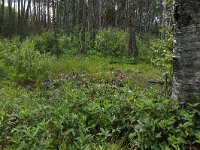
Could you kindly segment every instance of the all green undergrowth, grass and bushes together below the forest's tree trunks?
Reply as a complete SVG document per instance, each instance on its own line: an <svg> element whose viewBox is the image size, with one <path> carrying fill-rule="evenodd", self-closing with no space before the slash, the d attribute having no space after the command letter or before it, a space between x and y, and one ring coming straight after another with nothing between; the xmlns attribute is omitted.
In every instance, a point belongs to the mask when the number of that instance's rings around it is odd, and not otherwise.
<svg viewBox="0 0 200 150"><path fill-rule="evenodd" d="M56 59L54 40L47 32L0 42L0 149L200 147L200 103L171 100L162 77L169 41L138 38L133 59L125 31L101 31L81 55L78 36L63 35Z"/></svg>

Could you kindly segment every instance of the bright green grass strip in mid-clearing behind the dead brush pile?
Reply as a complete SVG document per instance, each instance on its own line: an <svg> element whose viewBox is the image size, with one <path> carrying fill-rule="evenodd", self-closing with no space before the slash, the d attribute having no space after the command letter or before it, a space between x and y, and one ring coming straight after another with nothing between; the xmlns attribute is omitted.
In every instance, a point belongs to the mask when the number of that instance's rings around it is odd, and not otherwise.
<svg viewBox="0 0 200 150"><path fill-rule="evenodd" d="M98 81L111 82L116 76L123 76L126 83L139 83L149 87L148 80L162 80L162 71L147 63L112 63L112 57L102 56L75 56L62 57L50 63L50 70L54 76L60 74L84 74ZM122 59L122 58L118 58ZM131 60L130 60L131 61ZM118 75L115 73L119 72ZM138 84L138 85L139 85Z"/></svg>

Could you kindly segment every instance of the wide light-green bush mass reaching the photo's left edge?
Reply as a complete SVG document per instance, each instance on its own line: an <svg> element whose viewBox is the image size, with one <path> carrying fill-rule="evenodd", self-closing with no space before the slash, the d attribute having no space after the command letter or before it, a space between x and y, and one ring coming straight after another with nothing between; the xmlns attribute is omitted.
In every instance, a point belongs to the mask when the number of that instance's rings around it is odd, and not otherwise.
<svg viewBox="0 0 200 150"><path fill-rule="evenodd" d="M48 54L40 54L35 50L33 41L26 40L21 45L8 42L4 45L1 64L7 78L14 78L17 83L26 84L36 83L49 75L47 66L51 58Z"/></svg>

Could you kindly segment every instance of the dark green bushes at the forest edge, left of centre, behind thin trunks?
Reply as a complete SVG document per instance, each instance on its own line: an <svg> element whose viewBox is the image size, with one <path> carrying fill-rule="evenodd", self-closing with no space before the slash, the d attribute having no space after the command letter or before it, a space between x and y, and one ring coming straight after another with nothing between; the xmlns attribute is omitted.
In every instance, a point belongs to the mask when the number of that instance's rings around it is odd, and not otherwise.
<svg viewBox="0 0 200 150"><path fill-rule="evenodd" d="M34 43L34 48L40 53L56 54L59 51L60 54L73 55L77 54L82 45L81 34L74 33L74 35L61 35L55 38L52 31L45 32L41 35L32 36L29 38ZM90 38L86 33L86 49L90 50Z"/></svg>

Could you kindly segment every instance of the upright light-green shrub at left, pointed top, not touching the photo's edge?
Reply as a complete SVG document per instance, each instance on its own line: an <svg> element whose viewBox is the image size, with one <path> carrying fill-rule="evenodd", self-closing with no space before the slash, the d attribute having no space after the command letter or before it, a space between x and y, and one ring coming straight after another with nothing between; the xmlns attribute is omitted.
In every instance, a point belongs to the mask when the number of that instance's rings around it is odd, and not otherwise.
<svg viewBox="0 0 200 150"><path fill-rule="evenodd" d="M16 79L22 82L36 82L50 74L48 54L40 54L34 49L34 43L27 40L21 48L13 54L13 66L16 69Z"/></svg>

